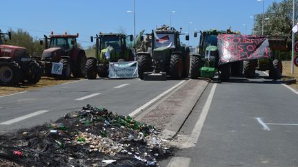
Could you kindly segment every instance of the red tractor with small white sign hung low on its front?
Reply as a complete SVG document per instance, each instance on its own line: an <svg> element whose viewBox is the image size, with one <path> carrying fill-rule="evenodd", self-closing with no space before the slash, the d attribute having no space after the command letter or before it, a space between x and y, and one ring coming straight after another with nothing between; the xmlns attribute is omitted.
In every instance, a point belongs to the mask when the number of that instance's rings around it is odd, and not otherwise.
<svg viewBox="0 0 298 167"><path fill-rule="evenodd" d="M44 36L45 50L39 64L43 67L46 76L68 79L70 75L75 78L85 77L86 54L77 46L77 35L59 34ZM43 40L40 41L43 45Z"/></svg>

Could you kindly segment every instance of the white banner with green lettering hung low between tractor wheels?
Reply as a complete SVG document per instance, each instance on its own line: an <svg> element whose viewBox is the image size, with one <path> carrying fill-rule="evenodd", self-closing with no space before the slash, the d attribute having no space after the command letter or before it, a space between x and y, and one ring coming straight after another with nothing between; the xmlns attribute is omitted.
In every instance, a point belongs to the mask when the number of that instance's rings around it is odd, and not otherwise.
<svg viewBox="0 0 298 167"><path fill-rule="evenodd" d="M109 78L136 78L138 77L137 61L110 62Z"/></svg>

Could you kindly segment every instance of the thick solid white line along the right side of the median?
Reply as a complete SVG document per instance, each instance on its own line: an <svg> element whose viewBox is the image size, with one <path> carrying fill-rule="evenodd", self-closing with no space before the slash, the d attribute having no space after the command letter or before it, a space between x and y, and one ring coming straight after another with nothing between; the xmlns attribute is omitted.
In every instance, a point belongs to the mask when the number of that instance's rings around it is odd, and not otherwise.
<svg viewBox="0 0 298 167"><path fill-rule="evenodd" d="M206 117L208 115L209 109L210 109L210 105L212 102L212 98L215 94L215 89L217 87L217 84L215 83L212 88L211 91L209 93L209 96L206 100L206 103L201 111L201 115L199 116L199 120L197 120L194 129L192 130L192 133L190 135L190 137L188 138L188 142L183 143L182 148L190 148L190 147L195 147L195 144L197 143L197 141L199 140L199 136L201 134L201 130L203 128L203 124L206 120Z"/></svg>

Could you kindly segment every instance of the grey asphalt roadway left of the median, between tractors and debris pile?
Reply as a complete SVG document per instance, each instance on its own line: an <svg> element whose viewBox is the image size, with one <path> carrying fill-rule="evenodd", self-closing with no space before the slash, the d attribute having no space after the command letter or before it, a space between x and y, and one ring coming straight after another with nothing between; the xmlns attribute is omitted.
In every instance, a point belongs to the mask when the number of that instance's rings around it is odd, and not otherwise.
<svg viewBox="0 0 298 167"><path fill-rule="evenodd" d="M86 104L128 115L179 82L181 80L82 80L0 96L0 132L54 121Z"/></svg>

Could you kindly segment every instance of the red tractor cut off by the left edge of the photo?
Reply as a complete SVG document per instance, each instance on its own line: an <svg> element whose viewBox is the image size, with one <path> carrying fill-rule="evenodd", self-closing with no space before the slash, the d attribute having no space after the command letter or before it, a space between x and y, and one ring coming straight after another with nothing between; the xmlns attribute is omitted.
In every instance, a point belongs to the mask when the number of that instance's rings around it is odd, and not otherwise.
<svg viewBox="0 0 298 167"><path fill-rule="evenodd" d="M11 39L11 33L0 30L0 85L36 84L41 78L41 67L30 58L26 48L3 45L7 37Z"/></svg>

